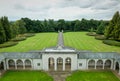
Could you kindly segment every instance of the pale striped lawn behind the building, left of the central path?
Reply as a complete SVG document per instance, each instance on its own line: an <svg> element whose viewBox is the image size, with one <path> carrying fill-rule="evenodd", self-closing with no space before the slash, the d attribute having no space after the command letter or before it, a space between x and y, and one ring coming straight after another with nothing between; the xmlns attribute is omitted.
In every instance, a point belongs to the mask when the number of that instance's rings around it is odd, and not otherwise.
<svg viewBox="0 0 120 81"><path fill-rule="evenodd" d="M27 52L56 46L57 36L58 33L38 33L34 37L19 42L16 46L0 48L0 52Z"/></svg>

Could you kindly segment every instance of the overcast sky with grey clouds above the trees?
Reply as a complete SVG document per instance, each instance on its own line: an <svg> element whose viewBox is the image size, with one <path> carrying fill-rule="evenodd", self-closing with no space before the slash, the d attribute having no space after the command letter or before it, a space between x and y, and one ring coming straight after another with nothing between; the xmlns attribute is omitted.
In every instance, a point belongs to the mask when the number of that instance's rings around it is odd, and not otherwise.
<svg viewBox="0 0 120 81"><path fill-rule="evenodd" d="M0 0L0 17L31 19L111 19L120 0Z"/></svg>

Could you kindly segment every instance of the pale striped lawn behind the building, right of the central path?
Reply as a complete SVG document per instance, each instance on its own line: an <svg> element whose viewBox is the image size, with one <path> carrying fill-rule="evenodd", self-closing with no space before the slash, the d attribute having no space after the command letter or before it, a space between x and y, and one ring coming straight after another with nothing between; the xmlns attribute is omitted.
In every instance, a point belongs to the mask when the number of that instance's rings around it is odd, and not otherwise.
<svg viewBox="0 0 120 81"><path fill-rule="evenodd" d="M86 33L87 32L64 33L65 46L95 52L120 52L120 47L103 44L101 40L96 40L93 36L87 36Z"/></svg>

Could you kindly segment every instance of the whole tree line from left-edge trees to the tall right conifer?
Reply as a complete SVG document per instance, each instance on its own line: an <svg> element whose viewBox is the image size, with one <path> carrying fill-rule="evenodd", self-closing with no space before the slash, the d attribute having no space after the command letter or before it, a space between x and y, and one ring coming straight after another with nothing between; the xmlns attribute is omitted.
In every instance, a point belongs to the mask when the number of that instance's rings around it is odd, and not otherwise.
<svg viewBox="0 0 120 81"><path fill-rule="evenodd" d="M31 20L29 18L21 18L17 21L9 21L8 17L0 18L0 44L15 38L19 34L39 33L39 32L57 32L64 31L95 31L98 34L104 34L104 29L108 25L108 21L103 20L74 20L65 21L59 19L49 20Z"/></svg>

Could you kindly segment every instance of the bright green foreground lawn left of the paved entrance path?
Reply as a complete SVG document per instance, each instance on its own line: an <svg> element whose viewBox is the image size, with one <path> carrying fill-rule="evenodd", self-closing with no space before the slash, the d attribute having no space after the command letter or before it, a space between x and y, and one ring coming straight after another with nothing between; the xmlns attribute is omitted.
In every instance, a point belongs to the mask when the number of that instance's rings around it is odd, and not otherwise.
<svg viewBox="0 0 120 81"><path fill-rule="evenodd" d="M41 71L8 71L0 81L53 81L53 78Z"/></svg>

